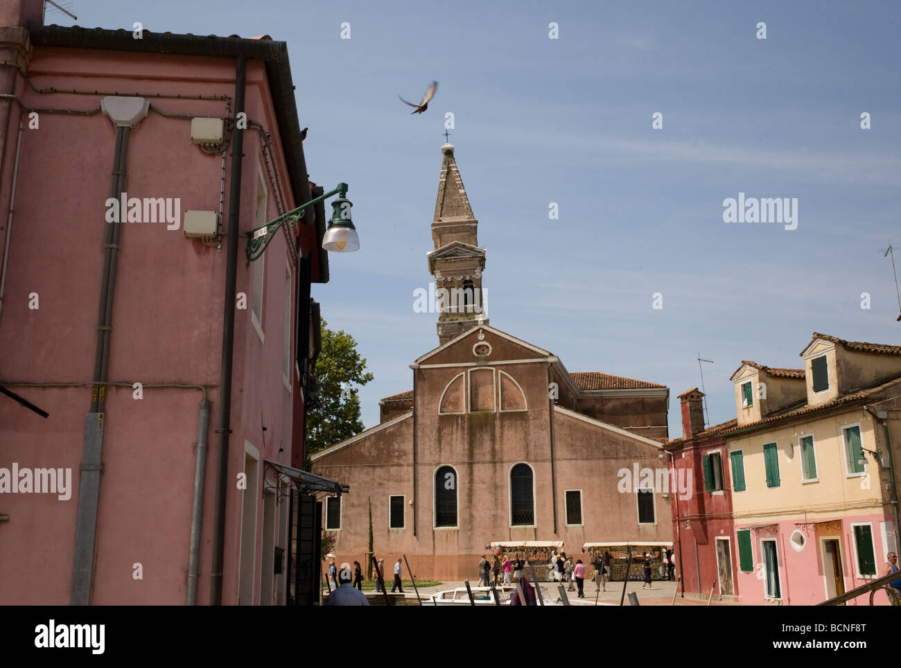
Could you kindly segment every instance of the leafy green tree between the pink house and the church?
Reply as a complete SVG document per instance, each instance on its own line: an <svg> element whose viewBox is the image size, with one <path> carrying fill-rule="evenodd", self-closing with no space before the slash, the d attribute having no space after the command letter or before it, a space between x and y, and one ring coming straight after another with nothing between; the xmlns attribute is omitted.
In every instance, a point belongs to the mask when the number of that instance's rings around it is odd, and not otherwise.
<svg viewBox="0 0 901 668"><path fill-rule="evenodd" d="M358 388L373 380L366 358L359 357L357 341L323 322L323 347L316 359L319 401L306 412L306 456L314 455L345 438L359 434Z"/></svg>

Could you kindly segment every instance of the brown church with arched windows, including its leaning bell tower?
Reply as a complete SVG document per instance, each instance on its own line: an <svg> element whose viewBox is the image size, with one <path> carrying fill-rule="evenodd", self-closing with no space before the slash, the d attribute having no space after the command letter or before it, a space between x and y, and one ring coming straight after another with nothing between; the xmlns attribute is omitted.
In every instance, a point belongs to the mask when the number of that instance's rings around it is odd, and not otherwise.
<svg viewBox="0 0 901 668"><path fill-rule="evenodd" d="M667 468L669 389L570 373L488 324L478 221L453 147L441 152L429 270L461 299L440 297L439 347L410 365L413 390L380 402L378 426L311 457L314 473L350 485L323 503L336 558L365 563L370 509L376 555L406 555L430 579L474 579L494 542L561 541L580 555L590 542L671 541L667 490L638 475Z"/></svg>

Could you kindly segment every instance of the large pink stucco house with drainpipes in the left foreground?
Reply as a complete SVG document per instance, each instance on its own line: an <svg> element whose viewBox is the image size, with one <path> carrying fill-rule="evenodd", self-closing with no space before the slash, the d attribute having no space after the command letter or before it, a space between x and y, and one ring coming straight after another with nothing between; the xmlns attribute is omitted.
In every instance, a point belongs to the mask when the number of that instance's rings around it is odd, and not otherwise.
<svg viewBox="0 0 901 668"><path fill-rule="evenodd" d="M322 192L286 44L42 5L0 8L0 604L308 602L323 205L245 256Z"/></svg>

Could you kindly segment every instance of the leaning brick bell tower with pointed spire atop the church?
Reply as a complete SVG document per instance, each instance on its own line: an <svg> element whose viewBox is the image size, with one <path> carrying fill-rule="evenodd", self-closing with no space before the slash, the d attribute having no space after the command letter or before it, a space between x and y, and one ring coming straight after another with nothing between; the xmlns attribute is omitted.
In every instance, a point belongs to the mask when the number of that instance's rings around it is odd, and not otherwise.
<svg viewBox="0 0 901 668"><path fill-rule="evenodd" d="M486 293L482 291L485 248L478 248L478 221L469 206L453 146L441 147L441 178L432 221L435 249L428 254L435 277L438 341L443 345L475 327L487 324Z"/></svg>

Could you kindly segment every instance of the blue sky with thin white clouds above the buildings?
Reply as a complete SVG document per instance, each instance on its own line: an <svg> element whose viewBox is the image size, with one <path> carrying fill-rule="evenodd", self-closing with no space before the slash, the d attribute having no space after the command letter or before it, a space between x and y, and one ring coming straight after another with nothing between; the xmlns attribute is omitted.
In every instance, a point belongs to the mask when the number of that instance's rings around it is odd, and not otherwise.
<svg viewBox="0 0 901 668"><path fill-rule="evenodd" d="M734 417L742 359L801 366L814 331L898 343L879 249L901 250L901 4L97 0L74 11L77 22L48 12L46 23L287 41L311 178L347 182L354 203L361 248L331 255L314 297L376 376L360 391L367 427L438 342L413 293L431 278L447 112L487 248L491 324L570 371L667 384L670 437L676 395L700 382L698 352L714 360L715 423ZM418 99L432 79L429 110L411 115L397 95ZM796 197L797 229L724 223L724 198L740 192Z"/></svg>

